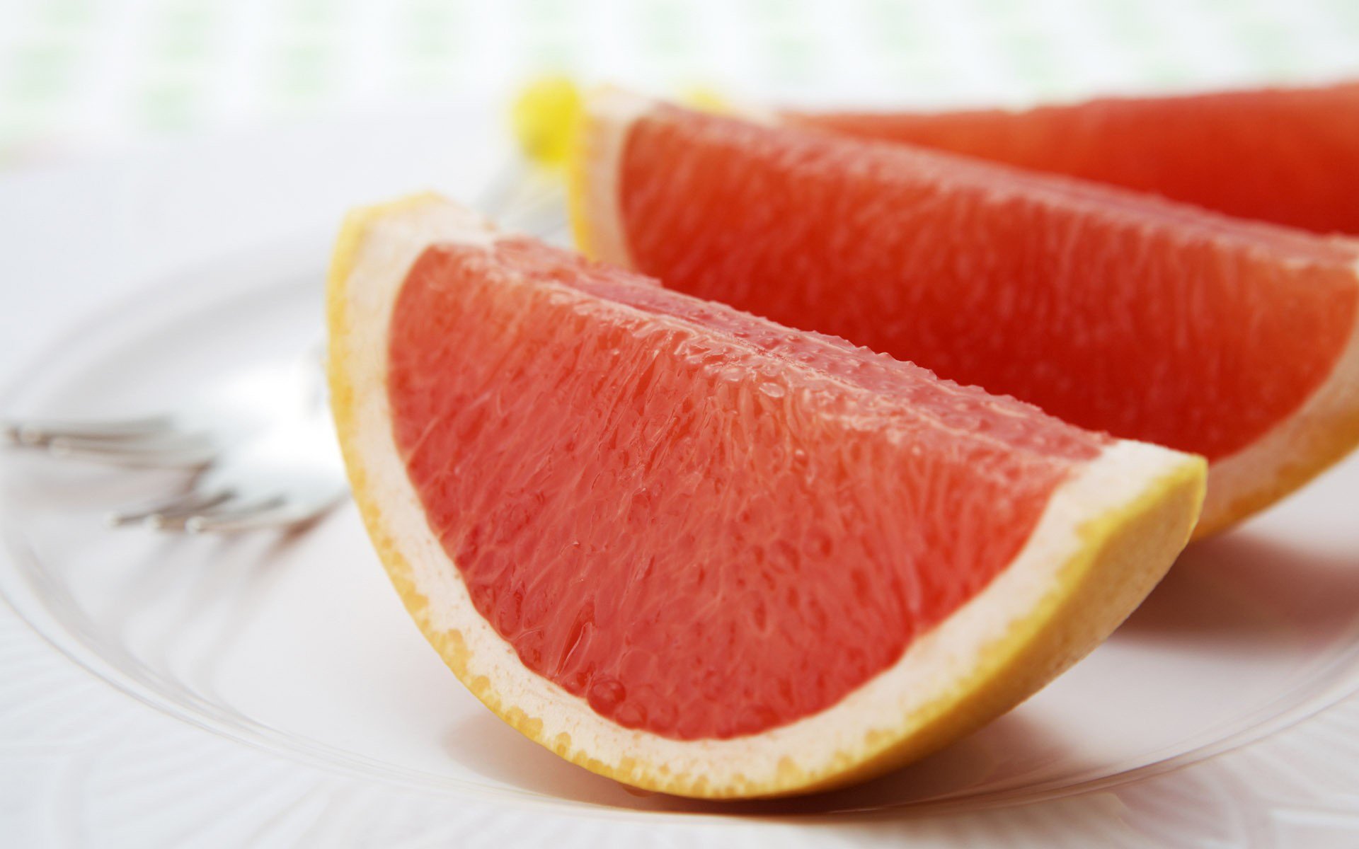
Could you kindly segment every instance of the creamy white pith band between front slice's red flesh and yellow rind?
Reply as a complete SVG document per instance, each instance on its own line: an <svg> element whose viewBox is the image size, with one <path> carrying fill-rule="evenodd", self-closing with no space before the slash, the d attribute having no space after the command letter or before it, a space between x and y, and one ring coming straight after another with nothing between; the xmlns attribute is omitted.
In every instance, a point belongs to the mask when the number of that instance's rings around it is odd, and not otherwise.
<svg viewBox="0 0 1359 849"><path fill-rule="evenodd" d="M431 242L484 246L495 236L474 216L436 200L374 221L363 234L341 296L351 322L336 350L353 397L351 462L356 486L379 504L382 523L410 566L416 591L428 600L428 625L457 630L467 651L467 674L481 676L508 708L541 721L540 740L569 735L571 748L590 753L622 773L643 762L671 774L707 777L711 785L772 782L790 767L818 774L867 740L898 735L904 717L938 705L964 689L977 659L1031 614L1059 584L1060 569L1083 547L1080 528L1155 490L1177 474L1186 455L1155 446L1117 441L1061 486L1030 541L996 579L902 657L822 713L762 734L727 740L675 740L632 731L597 715L584 700L525 667L514 649L481 618L461 575L425 520L391 431L386 390L387 329L395 295L416 257ZM974 682L973 682L974 683Z"/></svg>

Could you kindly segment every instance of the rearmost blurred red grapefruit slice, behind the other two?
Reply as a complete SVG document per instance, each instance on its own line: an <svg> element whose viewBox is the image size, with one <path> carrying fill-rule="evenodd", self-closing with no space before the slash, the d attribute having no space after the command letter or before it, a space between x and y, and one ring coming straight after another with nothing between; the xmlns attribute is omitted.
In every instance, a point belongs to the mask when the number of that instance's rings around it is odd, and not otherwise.
<svg viewBox="0 0 1359 849"><path fill-rule="evenodd" d="M1359 83L1023 111L786 118L1154 192L1234 216L1359 234Z"/></svg>

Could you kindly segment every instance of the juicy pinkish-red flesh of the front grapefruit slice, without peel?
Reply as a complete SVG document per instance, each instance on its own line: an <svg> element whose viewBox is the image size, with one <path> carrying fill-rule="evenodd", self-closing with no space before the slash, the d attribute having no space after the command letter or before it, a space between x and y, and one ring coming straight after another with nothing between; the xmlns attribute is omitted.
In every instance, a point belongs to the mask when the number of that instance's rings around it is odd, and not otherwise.
<svg viewBox="0 0 1359 849"><path fill-rule="evenodd" d="M477 610L601 716L681 739L881 672L1110 443L522 239L427 250L390 356L397 444Z"/></svg>

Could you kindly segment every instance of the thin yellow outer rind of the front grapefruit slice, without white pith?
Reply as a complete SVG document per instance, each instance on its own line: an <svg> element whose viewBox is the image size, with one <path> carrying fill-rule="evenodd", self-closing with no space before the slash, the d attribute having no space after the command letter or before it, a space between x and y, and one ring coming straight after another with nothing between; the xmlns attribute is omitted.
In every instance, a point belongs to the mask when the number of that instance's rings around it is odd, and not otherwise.
<svg viewBox="0 0 1359 849"><path fill-rule="evenodd" d="M351 213L340 234L328 283L332 409L353 497L372 545L406 611L459 681L516 731L594 773L633 787L704 799L775 797L829 789L883 773L946 746L1004 713L1084 656L1140 603L1185 545L1203 499L1204 463L1185 455L1137 497L1078 528L1082 546L1057 573L1041 602L1021 614L1006 636L988 645L970 676L920 710L901 717L894 731L866 732L860 744L841 750L815 769L780 763L773 778L735 777L712 784L703 774L677 774L666 763L633 757L606 762L578 747L569 735L544 732L530 716L495 691L476 672L462 632L434 626L429 603L417 590L402 541L389 523L356 440L356 397L348 372L348 334L364 317L349 314L345 281L368 227L378 219L431 202L417 196ZM451 564L450 564L451 568ZM525 674L529 675L527 670ZM829 708L828 710L834 710ZM795 753L790 753L795 754Z"/></svg>

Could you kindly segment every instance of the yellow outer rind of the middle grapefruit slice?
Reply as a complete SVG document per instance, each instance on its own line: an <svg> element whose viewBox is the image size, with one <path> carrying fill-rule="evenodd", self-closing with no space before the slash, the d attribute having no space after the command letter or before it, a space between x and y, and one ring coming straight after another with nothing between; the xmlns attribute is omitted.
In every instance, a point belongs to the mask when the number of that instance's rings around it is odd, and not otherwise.
<svg viewBox="0 0 1359 849"><path fill-rule="evenodd" d="M602 255L601 230L617 230L617 238L624 240L626 249L626 228L624 221L595 221L598 211L591 209L588 202L590 186L597 182L614 179L618 163L601 155L605 145L601 143L617 128L610 126L595 113L594 105L599 101L601 92L588 92L586 106L580 113L579 125L573 136L571 156L567 162L568 198L571 230L575 235L578 249L593 259L621 262L628 258L629 251L620 255ZM756 120L757 117L752 117ZM620 204L621 206L621 204ZM644 270L644 269L643 269ZM1356 272L1359 277L1359 272ZM1356 281L1359 285L1359 281ZM1348 350L1341 350L1339 360L1347 356ZM1279 424L1287 422L1287 418ZM1263 469L1258 477L1249 480L1235 490L1223 490L1215 494L1204 511L1203 519L1193 531L1192 539L1203 539L1219 534L1231 526L1249 519L1254 513L1276 504L1318 474L1344 459L1348 454L1359 448L1359 401L1347 409L1330 410L1316 421L1307 421L1306 429L1296 436L1291 446L1291 455L1287 462ZM1276 425L1277 427L1277 425ZM1208 485L1218 493L1218 486L1211 474ZM1224 504L1214 508L1216 503Z"/></svg>

